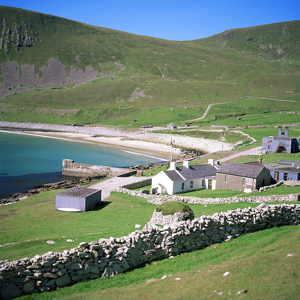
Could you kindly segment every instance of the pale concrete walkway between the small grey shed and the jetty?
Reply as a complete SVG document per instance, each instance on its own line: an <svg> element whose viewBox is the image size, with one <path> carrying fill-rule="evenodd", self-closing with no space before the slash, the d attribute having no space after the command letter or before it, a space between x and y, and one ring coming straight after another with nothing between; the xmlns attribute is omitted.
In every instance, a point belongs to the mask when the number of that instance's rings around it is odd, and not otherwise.
<svg viewBox="0 0 300 300"><path fill-rule="evenodd" d="M117 187L123 184L128 184L132 182L140 181L141 179L146 177L112 177L110 179L103 180L101 182L95 183L91 185L89 188L95 188L97 190L102 190L101 200L106 199L110 192L115 190Z"/></svg>

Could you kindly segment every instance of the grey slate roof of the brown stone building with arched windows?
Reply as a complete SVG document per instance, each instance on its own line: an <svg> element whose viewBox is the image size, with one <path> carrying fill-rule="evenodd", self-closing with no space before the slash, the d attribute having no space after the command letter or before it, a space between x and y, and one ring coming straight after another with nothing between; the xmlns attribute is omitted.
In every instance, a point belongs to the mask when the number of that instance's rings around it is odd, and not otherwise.
<svg viewBox="0 0 300 300"><path fill-rule="evenodd" d="M256 178L263 168L264 165L259 162L255 162L255 164L239 164L226 161L217 170L217 173Z"/></svg>

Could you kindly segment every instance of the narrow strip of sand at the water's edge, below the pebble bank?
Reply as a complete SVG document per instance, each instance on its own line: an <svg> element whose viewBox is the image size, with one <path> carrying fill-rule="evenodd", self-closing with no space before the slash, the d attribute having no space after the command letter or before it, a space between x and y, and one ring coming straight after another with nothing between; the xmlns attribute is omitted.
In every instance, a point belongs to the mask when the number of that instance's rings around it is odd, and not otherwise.
<svg viewBox="0 0 300 300"><path fill-rule="evenodd" d="M0 132L25 134L37 137L48 137L61 140L76 141L82 143L97 144L104 147L111 147L117 150L148 156L162 161L170 161L170 147L164 144L152 143L139 140L123 140L123 137L92 137L91 134L70 133L70 132L43 132L43 131L20 131L0 130ZM141 150L140 150L141 149ZM173 148L173 158L179 158L182 152Z"/></svg>

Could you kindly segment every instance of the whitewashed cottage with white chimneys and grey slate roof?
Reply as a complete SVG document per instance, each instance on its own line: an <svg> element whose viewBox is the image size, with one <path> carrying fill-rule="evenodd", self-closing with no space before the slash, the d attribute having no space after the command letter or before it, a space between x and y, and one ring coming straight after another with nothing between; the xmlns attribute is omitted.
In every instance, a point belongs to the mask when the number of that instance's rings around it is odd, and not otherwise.
<svg viewBox="0 0 300 300"><path fill-rule="evenodd" d="M177 167L176 162L170 163L170 169L161 171L152 177L152 188L157 193L179 194L193 190L216 188L216 171L214 159L209 159L208 164L190 166L189 161L183 162L183 167Z"/></svg>

